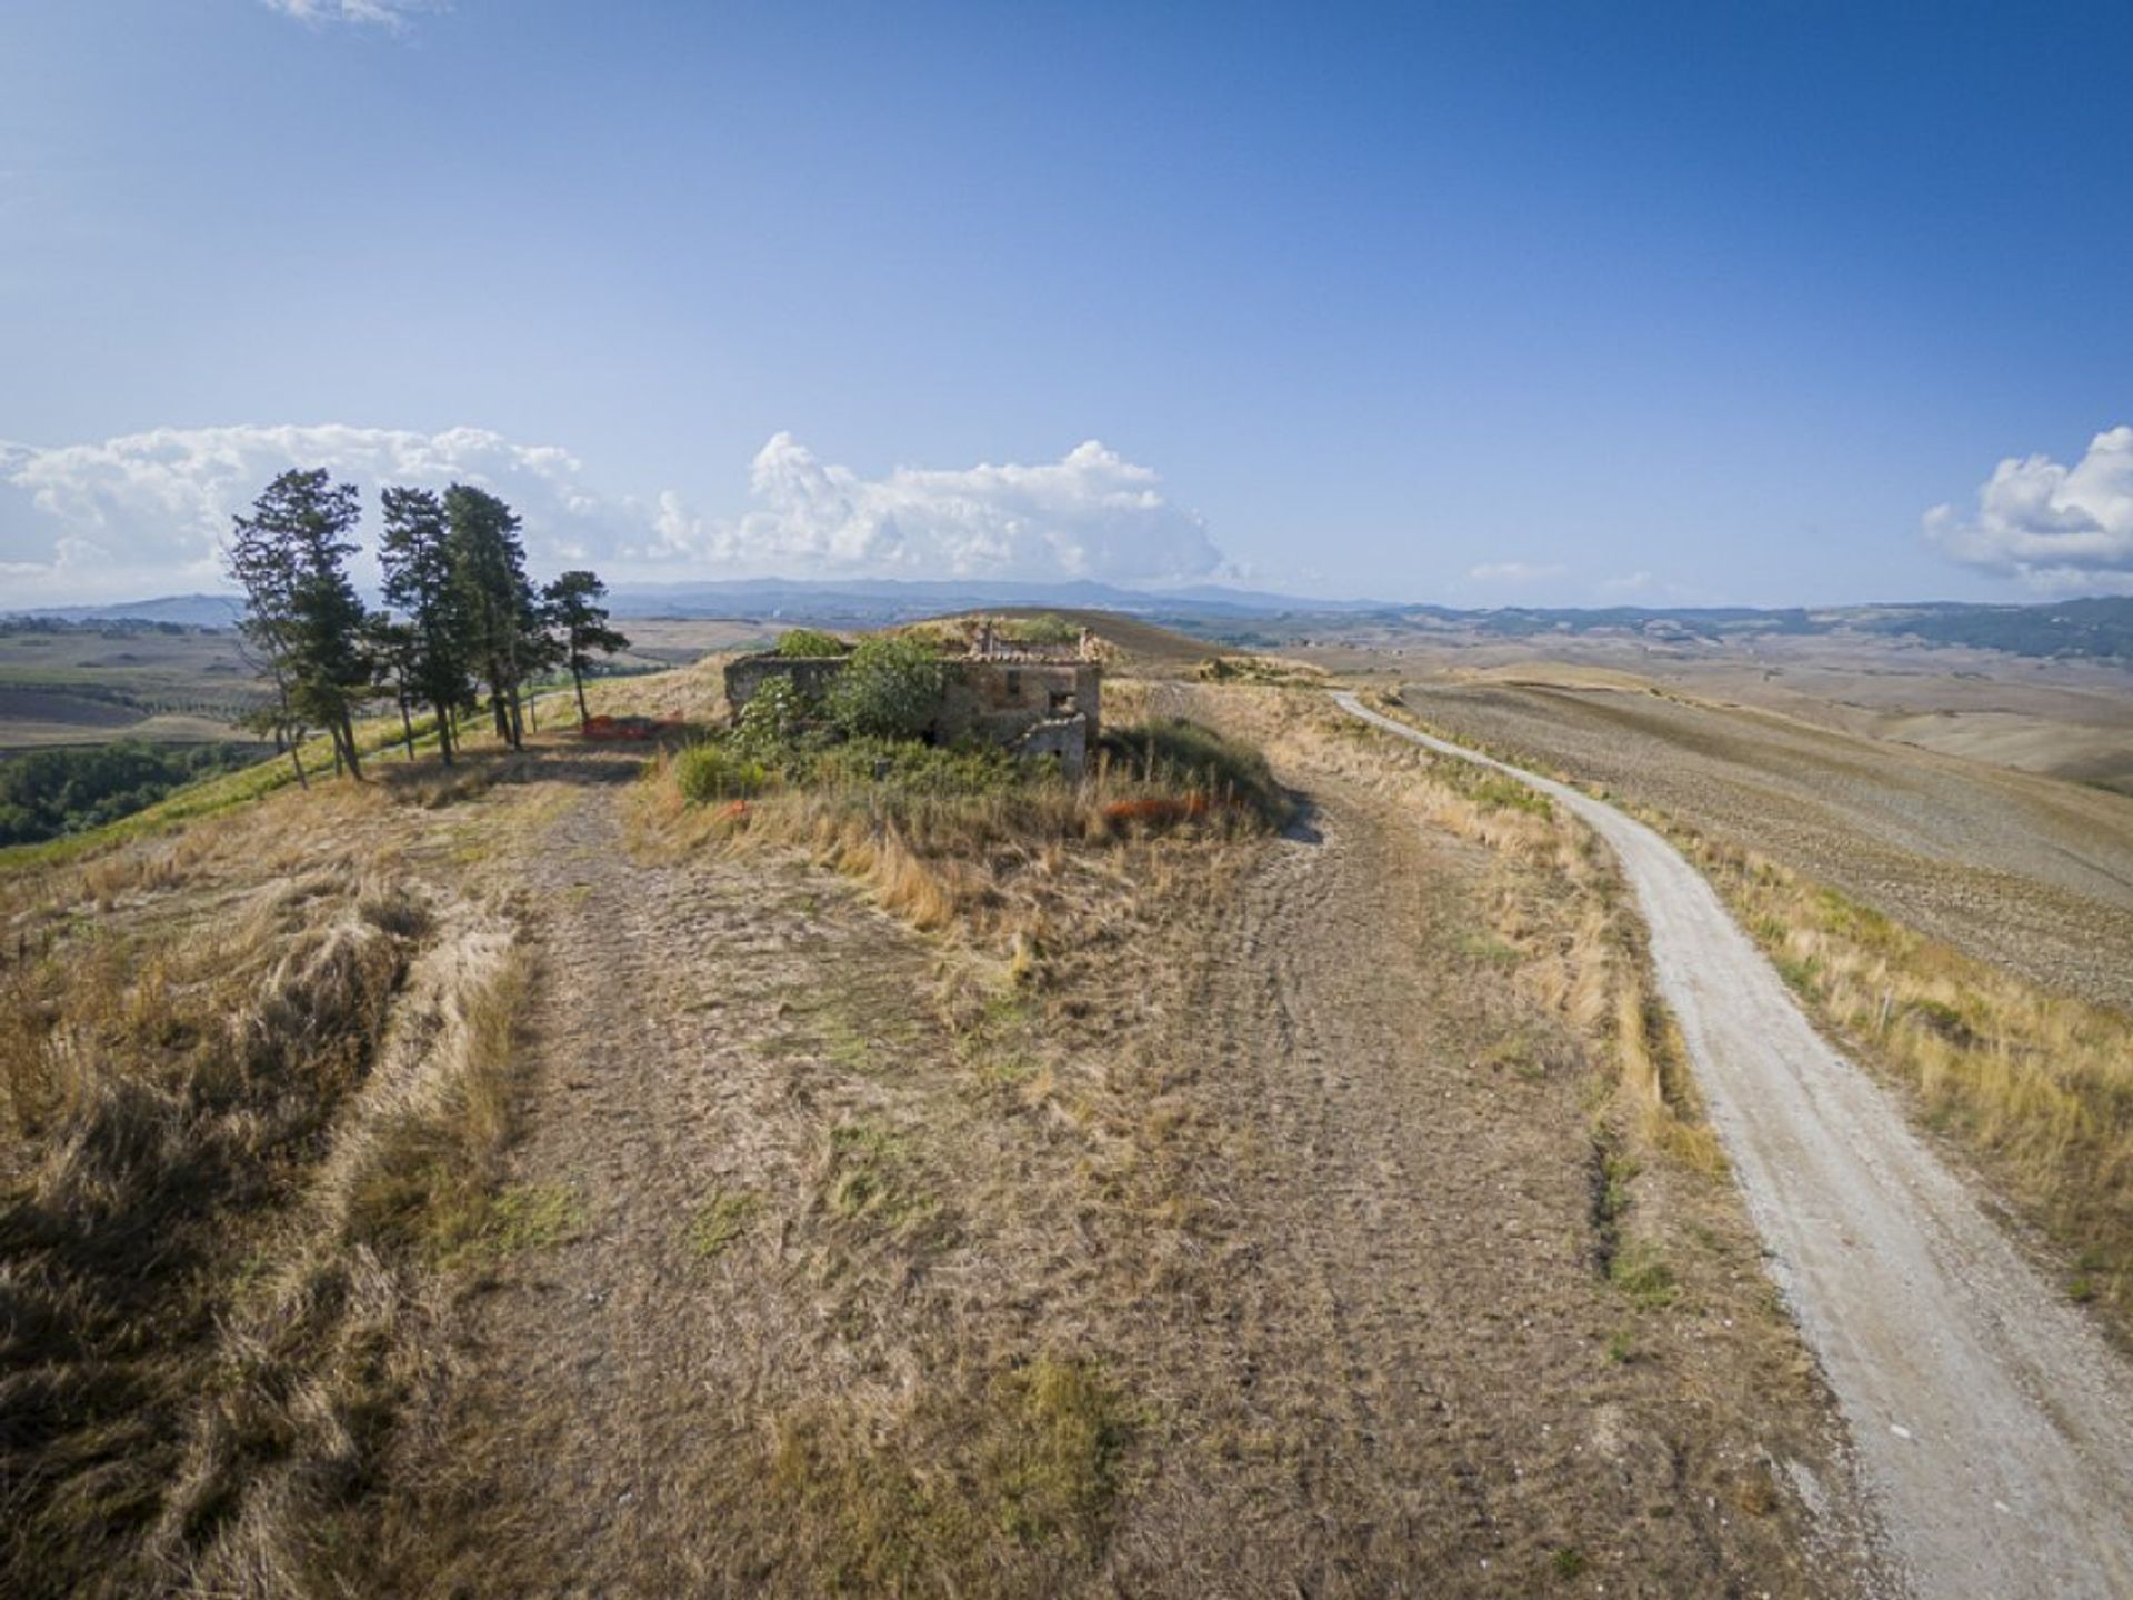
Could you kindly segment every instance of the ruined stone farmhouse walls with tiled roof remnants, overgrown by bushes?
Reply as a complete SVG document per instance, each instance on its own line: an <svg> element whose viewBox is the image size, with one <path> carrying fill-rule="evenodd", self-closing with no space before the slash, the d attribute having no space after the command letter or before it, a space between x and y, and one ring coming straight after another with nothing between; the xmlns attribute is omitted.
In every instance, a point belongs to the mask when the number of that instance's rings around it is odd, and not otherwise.
<svg viewBox="0 0 2133 1600"><path fill-rule="evenodd" d="M725 668L734 717L770 678L821 698L845 670L843 655L742 655ZM1017 755L1052 755L1079 777L1096 740L1103 661L1090 634L1077 644L1015 644L979 623L968 649L941 659L941 702L926 738L988 738Z"/></svg>

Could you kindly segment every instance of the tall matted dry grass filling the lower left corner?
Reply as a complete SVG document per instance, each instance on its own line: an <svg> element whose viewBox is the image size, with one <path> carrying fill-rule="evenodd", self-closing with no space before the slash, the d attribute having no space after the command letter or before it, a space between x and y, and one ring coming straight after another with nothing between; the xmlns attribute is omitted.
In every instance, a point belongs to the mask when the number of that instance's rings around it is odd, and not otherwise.
<svg viewBox="0 0 2133 1600"><path fill-rule="evenodd" d="M516 981L390 813L279 794L0 890L9 1594L333 1591L356 1557L437 1361L433 1280L363 1201L414 1129L480 1180Z"/></svg>

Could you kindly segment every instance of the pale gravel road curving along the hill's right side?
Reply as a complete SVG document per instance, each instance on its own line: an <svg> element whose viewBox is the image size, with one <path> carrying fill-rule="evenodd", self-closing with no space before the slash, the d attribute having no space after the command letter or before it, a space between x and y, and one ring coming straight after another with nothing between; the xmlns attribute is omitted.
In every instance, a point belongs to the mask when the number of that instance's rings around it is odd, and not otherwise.
<svg viewBox="0 0 2133 1600"><path fill-rule="evenodd" d="M1604 802L1335 702L1529 783L1619 855L1773 1274L1913 1589L2133 1594L2133 1372L1809 1026L1704 879Z"/></svg>

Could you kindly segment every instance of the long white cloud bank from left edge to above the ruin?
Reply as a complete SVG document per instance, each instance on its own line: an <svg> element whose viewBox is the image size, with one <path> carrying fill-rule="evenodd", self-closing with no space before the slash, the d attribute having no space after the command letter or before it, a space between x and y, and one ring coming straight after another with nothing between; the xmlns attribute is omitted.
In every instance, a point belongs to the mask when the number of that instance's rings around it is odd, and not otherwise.
<svg viewBox="0 0 2133 1600"><path fill-rule="evenodd" d="M55 448L0 442L0 608L220 589L230 514L286 467L354 482L367 546L382 484L469 482L518 510L538 570L593 565L608 578L1160 585L1226 572L1158 474L1094 439L1052 463L864 478L776 433L749 471L753 508L708 516L674 491L651 501L604 493L572 452L488 429L235 425Z"/></svg>

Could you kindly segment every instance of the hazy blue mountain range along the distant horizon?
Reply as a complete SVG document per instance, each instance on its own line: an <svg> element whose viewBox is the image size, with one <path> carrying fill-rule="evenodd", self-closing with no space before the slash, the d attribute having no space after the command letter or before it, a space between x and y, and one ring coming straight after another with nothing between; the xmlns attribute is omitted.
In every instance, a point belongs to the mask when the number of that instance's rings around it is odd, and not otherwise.
<svg viewBox="0 0 2133 1600"><path fill-rule="evenodd" d="M1627 631L1694 644L1721 644L1770 634L1877 634L1928 644L1967 644L2033 657L2092 657L2133 663L2133 595L2060 599L2041 606L1979 606L1958 602L1877 606L1753 606L1702 608L1531 608L1453 610L1374 599L1305 599L1256 589L1201 585L1192 589L1120 589L1105 582L904 582L800 578L740 578L732 582L619 582L610 593L616 617L738 617L772 623L881 627L941 612L1007 606L1060 606L1118 610L1165 623L1209 640L1237 644L1280 642L1320 629L1378 623L1384 627L1442 627L1495 638L1544 634ZM17 610L60 623L145 623L228 627L237 619L232 595L166 595L119 606L49 606Z"/></svg>

